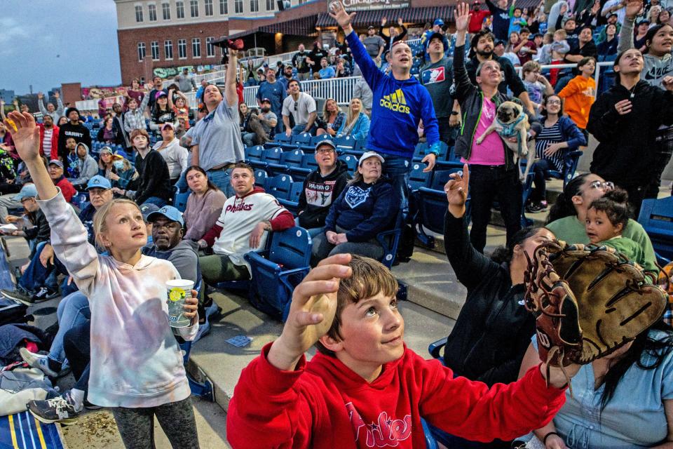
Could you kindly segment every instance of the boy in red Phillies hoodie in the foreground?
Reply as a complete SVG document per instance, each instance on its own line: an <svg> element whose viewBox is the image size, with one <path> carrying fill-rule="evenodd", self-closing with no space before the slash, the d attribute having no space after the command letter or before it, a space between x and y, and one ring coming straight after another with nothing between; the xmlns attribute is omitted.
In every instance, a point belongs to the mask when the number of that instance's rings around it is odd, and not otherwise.
<svg viewBox="0 0 673 449"><path fill-rule="evenodd" d="M541 363L489 389L407 349L396 292L393 274L366 257L338 254L313 269L294 290L283 333L240 375L231 446L425 448L421 417L472 441L512 440L561 408L558 368L550 387ZM313 344L319 353L307 363Z"/></svg>

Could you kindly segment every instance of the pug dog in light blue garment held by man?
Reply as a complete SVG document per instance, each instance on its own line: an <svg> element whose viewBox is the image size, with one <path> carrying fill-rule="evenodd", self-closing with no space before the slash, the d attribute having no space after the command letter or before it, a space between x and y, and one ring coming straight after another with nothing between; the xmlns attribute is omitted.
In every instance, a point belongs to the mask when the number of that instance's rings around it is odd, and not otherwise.
<svg viewBox="0 0 673 449"><path fill-rule="evenodd" d="M486 128L484 133L477 138L477 143L480 144L484 141L487 135L496 131L503 142L514 154L514 163L519 167L519 179L525 180L530 171L531 165L533 165L533 157L526 158L526 170L522 173L521 164L519 164L519 159L522 156L526 156L529 151L529 145L531 148L535 148L535 142L531 140L529 144L528 130L531 128L528 123L528 116L524 112L524 106L518 98L515 98L510 101L505 101L498 106L496 111L496 118L493 123ZM510 138L516 138L515 142L511 142ZM534 152L533 152L534 155Z"/></svg>

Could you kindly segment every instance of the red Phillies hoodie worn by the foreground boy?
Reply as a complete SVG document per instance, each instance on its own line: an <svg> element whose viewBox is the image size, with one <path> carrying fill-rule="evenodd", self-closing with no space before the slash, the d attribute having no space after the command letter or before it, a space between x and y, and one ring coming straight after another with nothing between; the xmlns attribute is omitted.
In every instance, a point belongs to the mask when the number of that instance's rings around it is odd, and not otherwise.
<svg viewBox="0 0 673 449"><path fill-rule="evenodd" d="M565 402L564 389L546 387L538 366L489 389L405 349L368 384L322 354L278 370L266 359L270 348L234 389L226 417L232 448L425 448L421 417L469 440L511 440L543 427Z"/></svg>

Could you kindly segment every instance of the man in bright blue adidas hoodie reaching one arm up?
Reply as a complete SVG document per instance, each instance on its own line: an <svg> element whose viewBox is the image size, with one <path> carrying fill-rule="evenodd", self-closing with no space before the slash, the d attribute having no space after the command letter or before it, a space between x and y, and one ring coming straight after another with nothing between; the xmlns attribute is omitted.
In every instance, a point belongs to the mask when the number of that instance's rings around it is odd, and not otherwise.
<svg viewBox="0 0 673 449"><path fill-rule="evenodd" d="M406 205L407 180L419 142L417 129L421 120L430 146L430 152L423 158L423 162L428 163L424 171L433 169L439 154L440 133L433 100L428 90L410 74L413 57L406 43L395 42L390 51L390 75L383 74L369 57L358 34L353 32L351 20L355 13L346 13L341 1L331 6L329 15L344 29L353 58L374 93L367 149L386 159L383 174L390 178L395 194Z"/></svg>

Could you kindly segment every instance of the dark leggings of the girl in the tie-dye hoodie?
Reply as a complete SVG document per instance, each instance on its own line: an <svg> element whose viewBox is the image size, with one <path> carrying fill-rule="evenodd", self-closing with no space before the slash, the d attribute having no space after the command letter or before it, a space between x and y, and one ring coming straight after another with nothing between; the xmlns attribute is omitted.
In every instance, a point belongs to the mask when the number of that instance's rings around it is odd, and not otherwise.
<svg viewBox="0 0 673 449"><path fill-rule="evenodd" d="M157 407L111 409L126 449L154 449L154 416L173 449L198 449L191 398Z"/></svg>

